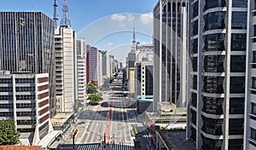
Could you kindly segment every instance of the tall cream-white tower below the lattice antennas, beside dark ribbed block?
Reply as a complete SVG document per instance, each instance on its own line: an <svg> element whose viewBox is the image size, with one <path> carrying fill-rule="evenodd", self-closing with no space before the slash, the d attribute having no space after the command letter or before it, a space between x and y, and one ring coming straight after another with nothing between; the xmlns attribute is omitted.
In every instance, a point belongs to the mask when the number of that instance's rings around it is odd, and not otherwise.
<svg viewBox="0 0 256 150"><path fill-rule="evenodd" d="M76 33L72 27L55 30L55 83L57 112L73 112L77 97Z"/></svg>

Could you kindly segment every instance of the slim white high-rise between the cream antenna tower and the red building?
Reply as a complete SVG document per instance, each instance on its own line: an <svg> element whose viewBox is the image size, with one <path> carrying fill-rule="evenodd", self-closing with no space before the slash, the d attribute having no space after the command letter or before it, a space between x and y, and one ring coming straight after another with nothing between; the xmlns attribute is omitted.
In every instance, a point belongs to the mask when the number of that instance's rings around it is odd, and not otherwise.
<svg viewBox="0 0 256 150"><path fill-rule="evenodd" d="M77 39L77 61L78 61L78 99L85 101L86 95L86 45L84 38Z"/></svg>

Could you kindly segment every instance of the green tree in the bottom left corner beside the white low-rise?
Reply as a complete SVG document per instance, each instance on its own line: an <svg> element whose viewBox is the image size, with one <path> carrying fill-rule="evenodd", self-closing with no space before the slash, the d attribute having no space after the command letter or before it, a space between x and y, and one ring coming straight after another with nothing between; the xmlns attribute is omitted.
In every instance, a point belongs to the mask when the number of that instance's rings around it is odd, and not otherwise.
<svg viewBox="0 0 256 150"><path fill-rule="evenodd" d="M20 142L20 133L15 130L15 121L12 119L0 120L0 145L15 145Z"/></svg>

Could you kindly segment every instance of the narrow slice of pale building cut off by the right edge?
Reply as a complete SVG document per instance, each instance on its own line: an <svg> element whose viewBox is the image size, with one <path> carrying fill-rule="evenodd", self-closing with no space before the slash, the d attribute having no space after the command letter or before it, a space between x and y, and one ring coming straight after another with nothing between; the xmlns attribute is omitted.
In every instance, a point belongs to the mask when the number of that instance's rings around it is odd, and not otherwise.
<svg viewBox="0 0 256 150"><path fill-rule="evenodd" d="M244 5L246 3L243 3ZM255 6L253 0L247 1L247 84L245 98L244 147L243 149L256 149L256 34L255 34ZM245 7L245 6L244 6ZM241 107L241 106L240 106Z"/></svg>

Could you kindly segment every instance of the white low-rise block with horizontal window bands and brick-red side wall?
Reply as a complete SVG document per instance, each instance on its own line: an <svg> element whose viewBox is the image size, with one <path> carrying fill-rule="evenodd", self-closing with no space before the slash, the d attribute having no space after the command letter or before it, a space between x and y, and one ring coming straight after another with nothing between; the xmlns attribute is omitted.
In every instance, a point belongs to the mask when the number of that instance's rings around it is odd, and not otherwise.
<svg viewBox="0 0 256 150"><path fill-rule="evenodd" d="M1 74L0 101L0 119L14 119L22 145L38 145L53 130L49 119L48 73Z"/></svg>

